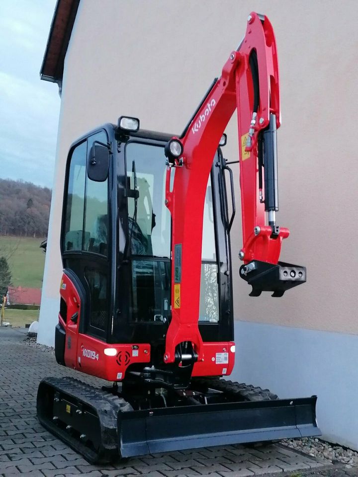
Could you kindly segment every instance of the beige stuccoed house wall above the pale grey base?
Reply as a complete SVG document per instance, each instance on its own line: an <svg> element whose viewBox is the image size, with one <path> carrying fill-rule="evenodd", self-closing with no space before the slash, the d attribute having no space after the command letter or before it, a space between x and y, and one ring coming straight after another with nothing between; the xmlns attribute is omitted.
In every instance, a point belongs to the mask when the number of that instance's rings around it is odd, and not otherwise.
<svg viewBox="0 0 358 477"><path fill-rule="evenodd" d="M145 129L180 133L244 35L248 13L257 10L273 24L280 63L278 223L291 230L281 259L306 265L308 282L281 299L248 297L238 275L239 214L232 233L235 317L358 333L358 7L354 0L339 6L323 0L81 1L65 63L40 329L53 333L57 320L45 305L51 301L54 310L58 297L71 142L120 115L139 117ZM233 160L236 119L227 133L224 153ZM238 184L237 168L236 178Z"/></svg>

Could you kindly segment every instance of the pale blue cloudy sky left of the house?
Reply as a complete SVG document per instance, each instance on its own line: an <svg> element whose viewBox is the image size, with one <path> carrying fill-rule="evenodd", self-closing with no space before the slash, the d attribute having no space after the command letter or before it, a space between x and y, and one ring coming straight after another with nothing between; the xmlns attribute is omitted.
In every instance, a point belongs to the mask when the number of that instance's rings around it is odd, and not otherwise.
<svg viewBox="0 0 358 477"><path fill-rule="evenodd" d="M56 0L0 0L0 177L52 188L60 97L39 72Z"/></svg>

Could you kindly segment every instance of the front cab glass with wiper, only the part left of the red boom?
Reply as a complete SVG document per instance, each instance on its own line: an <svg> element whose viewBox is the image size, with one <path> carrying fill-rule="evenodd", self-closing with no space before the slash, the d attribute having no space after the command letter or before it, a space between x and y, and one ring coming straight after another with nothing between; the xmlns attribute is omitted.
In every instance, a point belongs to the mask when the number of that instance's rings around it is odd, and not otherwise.
<svg viewBox="0 0 358 477"><path fill-rule="evenodd" d="M166 322L170 304L171 218L165 206L164 148L126 145L132 321Z"/></svg>

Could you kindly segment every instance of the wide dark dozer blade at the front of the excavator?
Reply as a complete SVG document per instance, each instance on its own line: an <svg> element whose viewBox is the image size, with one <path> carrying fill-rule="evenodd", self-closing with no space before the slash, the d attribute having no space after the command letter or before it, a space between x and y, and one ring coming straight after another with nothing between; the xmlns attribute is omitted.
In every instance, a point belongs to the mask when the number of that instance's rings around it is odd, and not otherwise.
<svg viewBox="0 0 358 477"><path fill-rule="evenodd" d="M118 414L122 457L321 435L317 397L227 402Z"/></svg>

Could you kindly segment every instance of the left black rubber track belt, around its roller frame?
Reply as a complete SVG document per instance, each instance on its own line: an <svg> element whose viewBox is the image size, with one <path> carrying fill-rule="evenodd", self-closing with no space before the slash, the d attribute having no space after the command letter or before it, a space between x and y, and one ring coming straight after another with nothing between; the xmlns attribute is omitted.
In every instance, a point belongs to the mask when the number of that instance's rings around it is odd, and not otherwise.
<svg viewBox="0 0 358 477"><path fill-rule="evenodd" d="M101 433L101 445L97 451L90 449L78 439L59 428L43 414L41 402L41 385L50 387L71 400L90 406L98 415ZM40 399L39 399L40 398ZM42 405L41 405L42 404ZM37 414L44 427L65 441L70 447L81 453L89 462L111 462L118 458L117 415L119 411L133 410L123 398L94 388L74 378L45 378L41 381L37 399Z"/></svg>

